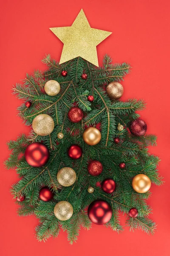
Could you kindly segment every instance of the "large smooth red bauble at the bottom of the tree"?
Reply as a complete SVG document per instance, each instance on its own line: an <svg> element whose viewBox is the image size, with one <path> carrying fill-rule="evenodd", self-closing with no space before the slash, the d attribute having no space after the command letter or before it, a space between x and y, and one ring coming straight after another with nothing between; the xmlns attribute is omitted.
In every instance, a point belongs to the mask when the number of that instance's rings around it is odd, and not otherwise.
<svg viewBox="0 0 170 256"><path fill-rule="evenodd" d="M88 218L94 224L103 225L110 221L111 217L111 206L104 200L93 201L88 207Z"/></svg>

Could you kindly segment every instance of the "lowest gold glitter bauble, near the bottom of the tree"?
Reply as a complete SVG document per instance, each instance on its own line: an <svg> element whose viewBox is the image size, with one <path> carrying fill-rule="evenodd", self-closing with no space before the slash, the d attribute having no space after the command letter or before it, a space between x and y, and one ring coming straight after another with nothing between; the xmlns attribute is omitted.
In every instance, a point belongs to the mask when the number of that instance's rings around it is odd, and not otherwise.
<svg viewBox="0 0 170 256"><path fill-rule="evenodd" d="M66 221L73 215L73 207L68 201L60 201L54 207L54 215L60 221Z"/></svg>

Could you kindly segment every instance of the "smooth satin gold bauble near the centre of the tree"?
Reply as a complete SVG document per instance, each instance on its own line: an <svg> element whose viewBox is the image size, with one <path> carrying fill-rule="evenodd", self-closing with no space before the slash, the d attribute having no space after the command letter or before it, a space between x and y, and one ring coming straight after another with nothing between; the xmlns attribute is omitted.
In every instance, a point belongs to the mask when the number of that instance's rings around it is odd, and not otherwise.
<svg viewBox="0 0 170 256"><path fill-rule="evenodd" d="M85 143L88 145L96 145L101 140L101 133L100 131L95 127L89 127L85 129L85 131L82 134L82 138Z"/></svg>

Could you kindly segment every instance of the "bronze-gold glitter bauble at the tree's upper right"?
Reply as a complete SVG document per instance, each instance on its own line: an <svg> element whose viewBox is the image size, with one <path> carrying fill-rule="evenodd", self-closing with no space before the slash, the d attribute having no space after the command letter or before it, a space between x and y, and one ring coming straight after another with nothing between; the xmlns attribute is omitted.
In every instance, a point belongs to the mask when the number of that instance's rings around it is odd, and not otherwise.
<svg viewBox="0 0 170 256"><path fill-rule="evenodd" d="M119 99L123 95L123 86L119 82L111 82L106 87L110 99Z"/></svg>

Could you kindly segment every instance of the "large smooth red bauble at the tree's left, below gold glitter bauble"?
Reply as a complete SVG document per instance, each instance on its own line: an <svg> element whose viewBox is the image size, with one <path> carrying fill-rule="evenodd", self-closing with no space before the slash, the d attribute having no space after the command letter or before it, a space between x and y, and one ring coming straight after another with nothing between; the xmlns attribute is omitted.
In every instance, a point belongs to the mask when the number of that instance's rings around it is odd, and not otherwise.
<svg viewBox="0 0 170 256"><path fill-rule="evenodd" d="M48 148L40 142L34 142L27 146L25 158L27 163L33 167L42 167L48 162L50 152Z"/></svg>

